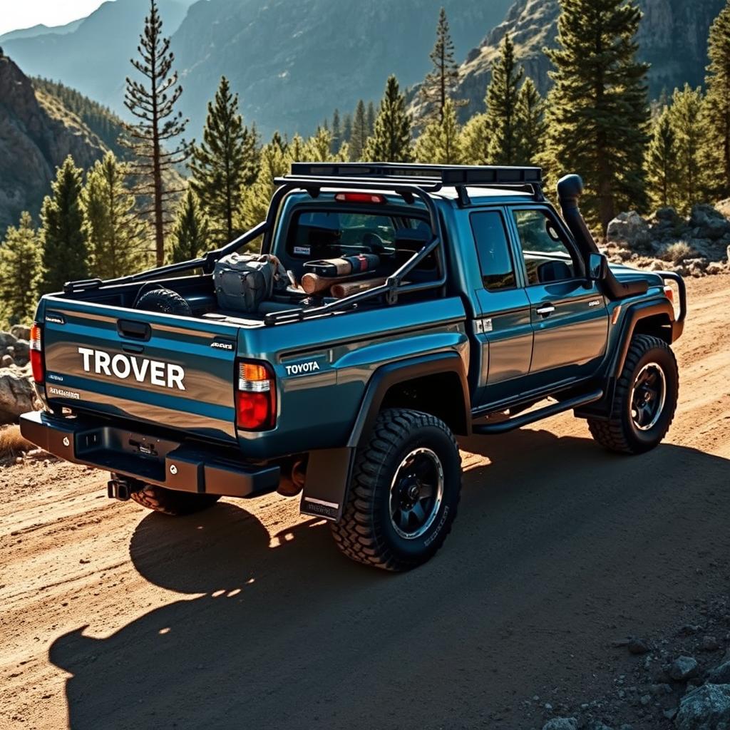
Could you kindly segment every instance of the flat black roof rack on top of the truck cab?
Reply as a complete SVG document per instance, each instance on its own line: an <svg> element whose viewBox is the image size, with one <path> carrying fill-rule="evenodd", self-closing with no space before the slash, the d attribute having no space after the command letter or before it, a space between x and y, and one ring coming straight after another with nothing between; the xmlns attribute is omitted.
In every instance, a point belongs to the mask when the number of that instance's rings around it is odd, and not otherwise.
<svg viewBox="0 0 730 730"><path fill-rule="evenodd" d="M288 176L280 178L287 180ZM495 165L421 165L399 162L293 162L291 178L315 184L377 181L429 186L430 191L456 188L459 203L469 204L466 187L527 188L542 199L542 169Z"/></svg>

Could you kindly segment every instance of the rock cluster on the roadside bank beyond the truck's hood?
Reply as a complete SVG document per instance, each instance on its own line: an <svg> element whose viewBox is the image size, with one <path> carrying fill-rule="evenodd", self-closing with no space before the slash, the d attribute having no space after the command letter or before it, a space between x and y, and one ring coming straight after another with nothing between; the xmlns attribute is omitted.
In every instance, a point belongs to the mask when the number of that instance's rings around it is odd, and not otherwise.
<svg viewBox="0 0 730 730"><path fill-rule="evenodd" d="M712 205L697 204L688 218L660 208L649 218L621 213L607 229L611 261L683 276L730 273L730 220Z"/></svg>

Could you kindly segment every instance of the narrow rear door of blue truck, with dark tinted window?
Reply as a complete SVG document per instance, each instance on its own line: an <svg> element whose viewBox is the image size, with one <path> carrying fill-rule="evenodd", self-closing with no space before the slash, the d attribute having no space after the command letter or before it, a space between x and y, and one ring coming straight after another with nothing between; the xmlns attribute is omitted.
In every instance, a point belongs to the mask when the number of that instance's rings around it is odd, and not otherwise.
<svg viewBox="0 0 730 730"><path fill-rule="evenodd" d="M483 405L511 396L515 378L529 373L533 330L530 301L516 275L504 210L472 212L469 223L481 282L476 291L475 337L482 351L475 405Z"/></svg>

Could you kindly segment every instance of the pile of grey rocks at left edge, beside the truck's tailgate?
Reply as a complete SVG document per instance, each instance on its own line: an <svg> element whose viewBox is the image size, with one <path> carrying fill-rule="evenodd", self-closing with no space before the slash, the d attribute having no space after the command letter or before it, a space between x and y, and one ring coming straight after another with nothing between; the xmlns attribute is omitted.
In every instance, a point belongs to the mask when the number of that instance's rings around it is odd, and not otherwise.
<svg viewBox="0 0 730 730"><path fill-rule="evenodd" d="M29 363L28 327L0 332L0 423L12 423L37 407Z"/></svg>

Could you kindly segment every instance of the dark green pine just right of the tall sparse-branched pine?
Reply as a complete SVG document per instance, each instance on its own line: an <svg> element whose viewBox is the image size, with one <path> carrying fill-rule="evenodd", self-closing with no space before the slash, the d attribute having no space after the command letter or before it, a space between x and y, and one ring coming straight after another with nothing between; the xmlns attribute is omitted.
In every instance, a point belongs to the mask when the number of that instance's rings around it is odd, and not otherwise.
<svg viewBox="0 0 730 730"><path fill-rule="evenodd" d="M203 142L193 147L191 187L210 221L210 233L218 243L236 236L234 213L243 200L247 164L247 138L238 110L238 94L231 93L228 79L220 77L215 101L208 102Z"/></svg>

